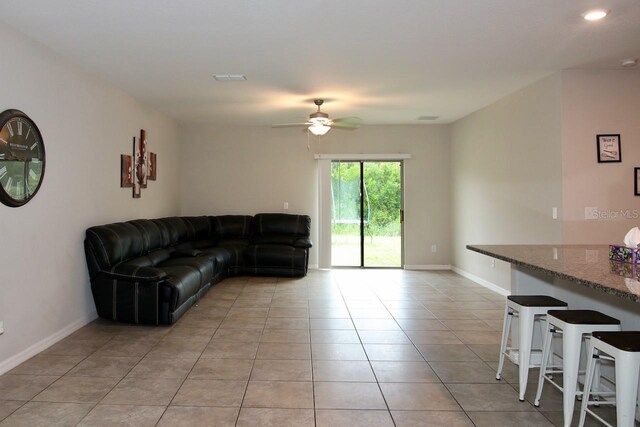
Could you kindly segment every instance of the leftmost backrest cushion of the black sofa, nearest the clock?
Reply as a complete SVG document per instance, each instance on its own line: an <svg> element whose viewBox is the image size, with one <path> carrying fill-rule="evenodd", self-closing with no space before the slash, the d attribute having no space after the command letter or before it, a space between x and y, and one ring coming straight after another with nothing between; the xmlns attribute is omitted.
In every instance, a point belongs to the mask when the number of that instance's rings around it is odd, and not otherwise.
<svg viewBox="0 0 640 427"><path fill-rule="evenodd" d="M118 222L87 229L87 255L96 265L90 268L108 270L113 265L144 253L142 233L133 224Z"/></svg>

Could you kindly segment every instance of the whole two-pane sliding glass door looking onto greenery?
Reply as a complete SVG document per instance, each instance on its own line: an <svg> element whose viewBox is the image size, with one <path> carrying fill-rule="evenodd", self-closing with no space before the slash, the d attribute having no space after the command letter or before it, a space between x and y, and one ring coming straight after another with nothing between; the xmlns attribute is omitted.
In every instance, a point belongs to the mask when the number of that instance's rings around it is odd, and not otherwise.
<svg viewBox="0 0 640 427"><path fill-rule="evenodd" d="M331 163L331 264L402 266L402 162Z"/></svg>

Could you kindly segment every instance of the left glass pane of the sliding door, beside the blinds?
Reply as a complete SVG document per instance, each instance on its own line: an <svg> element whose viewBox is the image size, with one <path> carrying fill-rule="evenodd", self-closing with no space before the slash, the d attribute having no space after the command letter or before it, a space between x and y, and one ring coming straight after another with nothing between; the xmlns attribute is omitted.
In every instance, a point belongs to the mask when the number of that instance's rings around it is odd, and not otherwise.
<svg viewBox="0 0 640 427"><path fill-rule="evenodd" d="M331 265L359 267L360 163L332 162Z"/></svg>

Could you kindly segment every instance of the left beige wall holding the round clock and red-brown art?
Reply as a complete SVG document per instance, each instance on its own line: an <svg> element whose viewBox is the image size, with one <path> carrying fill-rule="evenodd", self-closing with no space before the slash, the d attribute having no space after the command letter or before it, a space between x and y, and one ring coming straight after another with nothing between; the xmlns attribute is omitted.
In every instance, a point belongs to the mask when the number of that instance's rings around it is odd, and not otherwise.
<svg viewBox="0 0 640 427"><path fill-rule="evenodd" d="M82 241L91 225L178 213L177 126L24 36L0 28L0 111L42 132L46 174L35 198L0 205L0 373L95 317ZM8 59L10 58L10 59ZM144 128L158 181L119 188L120 154Z"/></svg>

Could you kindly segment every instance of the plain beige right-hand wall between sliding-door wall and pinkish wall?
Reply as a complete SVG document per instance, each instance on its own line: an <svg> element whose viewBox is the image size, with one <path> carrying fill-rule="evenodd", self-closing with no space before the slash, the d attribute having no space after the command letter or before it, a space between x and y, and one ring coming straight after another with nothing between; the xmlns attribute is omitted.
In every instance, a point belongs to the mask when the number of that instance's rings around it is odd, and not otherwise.
<svg viewBox="0 0 640 427"><path fill-rule="evenodd" d="M452 264L507 290L508 264L465 247L561 242L560 84L547 77L452 125Z"/></svg>

